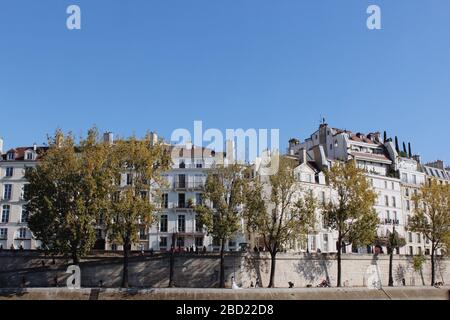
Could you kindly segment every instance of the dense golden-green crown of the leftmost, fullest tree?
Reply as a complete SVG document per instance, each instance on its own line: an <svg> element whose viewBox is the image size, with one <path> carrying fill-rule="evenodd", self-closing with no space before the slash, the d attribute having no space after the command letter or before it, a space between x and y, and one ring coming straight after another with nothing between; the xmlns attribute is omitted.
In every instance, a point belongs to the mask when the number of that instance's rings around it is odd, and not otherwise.
<svg viewBox="0 0 450 320"><path fill-rule="evenodd" d="M78 263L95 243L95 224L106 210L111 180L108 146L92 128L78 147L56 131L39 164L26 170L28 225L45 250Z"/></svg>

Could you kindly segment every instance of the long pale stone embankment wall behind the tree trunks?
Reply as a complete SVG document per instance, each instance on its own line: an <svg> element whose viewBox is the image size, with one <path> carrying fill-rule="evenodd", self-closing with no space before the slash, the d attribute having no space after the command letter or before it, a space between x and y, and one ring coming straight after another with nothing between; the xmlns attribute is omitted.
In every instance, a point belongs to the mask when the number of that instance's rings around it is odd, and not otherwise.
<svg viewBox="0 0 450 320"><path fill-rule="evenodd" d="M217 254L177 254L174 282L177 287L213 288L219 279ZM0 252L0 288L54 287L66 285L70 260L48 257L38 252ZM270 274L270 256L265 253L229 253L225 258L227 285L235 276L239 285L250 287L256 278L267 286ZM431 264L426 260L421 271L413 268L412 257L396 255L393 261L395 286L429 286ZM119 287L122 276L122 259L118 253L89 256L80 263L83 287ZM344 286L364 287L381 279L388 283L389 256L353 255L342 257L342 282ZM169 283L169 255L134 255L130 259L129 283L132 287L164 288ZM450 261L438 259L436 281L450 283ZM333 254L278 254L275 286L315 287L328 279L336 285L337 262Z"/></svg>

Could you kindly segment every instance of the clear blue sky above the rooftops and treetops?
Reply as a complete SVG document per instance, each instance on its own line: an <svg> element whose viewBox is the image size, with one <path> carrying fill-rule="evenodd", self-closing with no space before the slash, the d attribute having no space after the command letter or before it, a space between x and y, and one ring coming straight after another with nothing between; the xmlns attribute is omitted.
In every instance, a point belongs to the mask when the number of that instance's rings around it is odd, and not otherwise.
<svg viewBox="0 0 450 320"><path fill-rule="evenodd" d="M66 8L82 30L66 29ZM382 30L366 28L366 8ZM0 1L0 136L387 130L449 164L448 0Z"/></svg>

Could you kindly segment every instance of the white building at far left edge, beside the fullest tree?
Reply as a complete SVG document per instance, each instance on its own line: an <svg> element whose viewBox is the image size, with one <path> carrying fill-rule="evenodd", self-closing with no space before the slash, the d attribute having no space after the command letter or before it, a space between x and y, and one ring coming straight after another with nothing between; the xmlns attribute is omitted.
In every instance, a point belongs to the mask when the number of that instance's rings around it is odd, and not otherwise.
<svg viewBox="0 0 450 320"><path fill-rule="evenodd" d="M25 170L34 167L45 147L20 147L3 153L0 140L0 248L36 249L40 246L27 227Z"/></svg>

